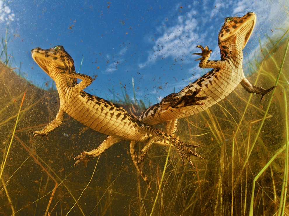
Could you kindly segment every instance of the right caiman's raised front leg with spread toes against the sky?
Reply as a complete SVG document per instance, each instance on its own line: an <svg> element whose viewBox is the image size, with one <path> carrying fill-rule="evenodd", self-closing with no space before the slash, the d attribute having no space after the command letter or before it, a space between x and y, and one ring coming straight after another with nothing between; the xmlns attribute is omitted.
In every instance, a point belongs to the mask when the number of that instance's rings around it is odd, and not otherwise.
<svg viewBox="0 0 289 216"><path fill-rule="evenodd" d="M195 59L195 61L201 60L199 63L200 68L222 68L225 66L226 60L224 61L223 60L214 60L214 61L208 60L212 53L212 50L211 49L209 50L208 46L203 48L201 45L198 45L197 47L202 50L202 53L192 53L192 54L202 56L199 59Z"/></svg>

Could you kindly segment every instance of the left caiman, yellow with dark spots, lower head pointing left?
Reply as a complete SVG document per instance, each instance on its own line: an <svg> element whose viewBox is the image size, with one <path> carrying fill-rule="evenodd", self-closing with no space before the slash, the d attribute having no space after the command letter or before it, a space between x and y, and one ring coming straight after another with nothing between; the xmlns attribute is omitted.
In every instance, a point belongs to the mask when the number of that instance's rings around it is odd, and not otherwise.
<svg viewBox="0 0 289 216"><path fill-rule="evenodd" d="M50 49L35 48L31 50L34 61L55 81L60 98L60 109L56 118L40 131L35 131L36 135L47 135L57 128L63 121L64 114L67 113L72 118L83 123L89 128L114 137L115 141L122 139L130 141L146 141L148 143L156 140L163 140L166 144L172 144L180 154L182 160L190 160L190 155L200 157L195 150L197 146L183 143L161 130L154 129L141 123L139 120L128 114L122 107L113 103L90 95L83 91L89 86L93 79L90 76L76 73L74 61L62 46L55 46ZM81 79L77 83L77 79ZM198 99L196 99L196 102ZM102 145L98 148L97 154L101 154L111 146ZM79 162L87 162L93 157L95 152L83 152L75 157L75 165Z"/></svg>

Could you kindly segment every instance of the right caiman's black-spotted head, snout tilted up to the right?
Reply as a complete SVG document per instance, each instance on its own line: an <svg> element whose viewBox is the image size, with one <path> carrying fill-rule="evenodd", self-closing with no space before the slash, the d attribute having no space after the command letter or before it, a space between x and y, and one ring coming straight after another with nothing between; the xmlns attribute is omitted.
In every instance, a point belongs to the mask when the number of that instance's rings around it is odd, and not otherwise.
<svg viewBox="0 0 289 216"><path fill-rule="evenodd" d="M255 27L256 15L246 13L243 17L227 17L218 35L221 59L232 52L242 52Z"/></svg>

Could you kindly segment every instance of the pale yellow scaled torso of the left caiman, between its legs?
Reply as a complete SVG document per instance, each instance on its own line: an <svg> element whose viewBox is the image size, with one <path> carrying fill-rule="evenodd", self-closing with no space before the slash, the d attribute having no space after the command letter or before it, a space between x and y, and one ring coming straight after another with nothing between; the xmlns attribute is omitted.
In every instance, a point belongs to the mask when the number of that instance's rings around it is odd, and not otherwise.
<svg viewBox="0 0 289 216"><path fill-rule="evenodd" d="M68 96L70 95L70 96ZM72 118L89 128L106 135L114 135L127 140L145 139L146 134L139 132L134 119L116 111L116 107L104 103L96 103L69 92L60 100L63 110Z"/></svg>

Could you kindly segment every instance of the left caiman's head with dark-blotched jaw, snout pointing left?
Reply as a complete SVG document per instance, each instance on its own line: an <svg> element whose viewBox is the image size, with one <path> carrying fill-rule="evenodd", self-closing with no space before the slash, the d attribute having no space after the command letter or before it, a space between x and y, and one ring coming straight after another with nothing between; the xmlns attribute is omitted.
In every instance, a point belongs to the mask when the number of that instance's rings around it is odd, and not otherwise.
<svg viewBox="0 0 289 216"><path fill-rule="evenodd" d="M31 50L31 55L39 67L54 81L60 73L75 73L74 61L63 46L55 46L50 49L37 47Z"/></svg>

